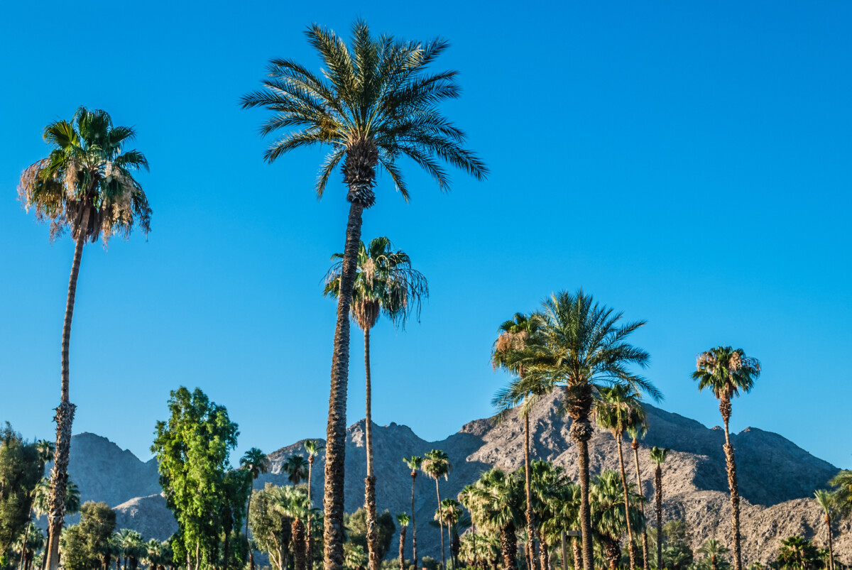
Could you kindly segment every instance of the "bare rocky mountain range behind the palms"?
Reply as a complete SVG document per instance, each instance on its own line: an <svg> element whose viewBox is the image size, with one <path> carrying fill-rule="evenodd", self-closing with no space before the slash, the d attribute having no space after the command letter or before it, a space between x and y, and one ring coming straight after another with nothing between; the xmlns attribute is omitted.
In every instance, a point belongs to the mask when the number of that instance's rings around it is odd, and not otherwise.
<svg viewBox="0 0 852 570"><path fill-rule="evenodd" d="M576 451L568 437L570 419L558 412L558 398L559 394L554 394L540 401L530 414L532 455L533 458L561 465L576 479ZM648 423L648 436L639 448L645 496L653 498L654 465L648 456L650 446L671 448L663 470L664 521L676 518L687 521L693 531L695 549L713 536L727 543L731 534L731 509L722 452L722 429L707 429L687 417L653 406L648 406ZM780 435L761 429L745 429L732 435L732 441L736 450L740 496L743 498L741 530L744 562L765 563L774 559L780 540L792 534L802 534L806 538L815 538L817 544L825 544L825 522L819 508L809 499L816 488L826 487L826 481L838 469ZM303 443L300 441L270 453L271 472L261 475L255 487L261 488L267 481L286 484L281 465L293 454L305 454ZM629 461L630 468L628 476L632 479L632 452L629 442L625 440L625 443L625 460ZM440 498L456 497L465 485L475 481L487 469L517 469L521 466L523 424L512 412L500 423L491 419L475 420L446 440L430 442L420 439L404 425L391 423L374 427L373 446L378 510L411 512L412 477L411 471L402 462L403 457L423 455L434 448L443 449L449 455L453 469L447 481L439 481ZM158 494L160 489L153 463L142 463L130 452L121 452L118 446L104 438L83 434L75 436L72 442L69 470L72 479L78 482L84 500L105 500L107 504L118 505L115 509L119 526L135 528L146 538L164 538L174 531L175 521ZM320 455L314 463L311 490L314 505L320 508L324 469L325 461ZM618 469L618 452L611 434L598 430L590 440L590 469L593 475L603 469ZM350 427L347 435L347 512L357 510L364 503L365 476L362 420ZM435 515L438 502L435 481L419 474L415 485L418 554L440 559L438 529L428 524ZM835 551L844 564L849 564L852 562L849 523L841 522L835 530L839 533L835 539ZM397 551L398 544L391 544L389 552Z"/></svg>

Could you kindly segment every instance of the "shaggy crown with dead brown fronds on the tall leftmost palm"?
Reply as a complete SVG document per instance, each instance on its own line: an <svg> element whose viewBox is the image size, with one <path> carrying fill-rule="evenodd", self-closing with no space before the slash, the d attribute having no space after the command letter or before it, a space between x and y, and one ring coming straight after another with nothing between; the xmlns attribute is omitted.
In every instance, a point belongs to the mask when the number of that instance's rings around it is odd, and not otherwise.
<svg viewBox="0 0 852 570"><path fill-rule="evenodd" d="M133 172L144 168L145 155L122 146L135 138L132 127L113 126L104 111L80 107L71 121L56 121L44 128L49 156L32 164L20 176L18 196L36 218L50 222L50 238L70 227L72 236L104 243L113 233L124 238L134 224L142 233L151 229L151 208ZM89 210L87 226L84 210Z"/></svg>

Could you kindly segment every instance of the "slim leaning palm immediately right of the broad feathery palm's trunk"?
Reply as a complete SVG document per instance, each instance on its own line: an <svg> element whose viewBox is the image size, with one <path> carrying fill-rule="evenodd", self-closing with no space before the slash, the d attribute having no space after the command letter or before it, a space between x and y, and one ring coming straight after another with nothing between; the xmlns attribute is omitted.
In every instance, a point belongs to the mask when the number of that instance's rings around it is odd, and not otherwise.
<svg viewBox="0 0 852 570"><path fill-rule="evenodd" d="M629 385L616 384L612 387L602 386L597 390L595 404L597 424L608 429L615 438L619 449L619 469L621 472L621 487L625 494L625 522L627 526L627 552L630 556L630 570L636 570L636 548L633 542L633 529L630 527L630 499L627 492L627 473L625 471L625 453L622 442L625 431L644 421L645 412L639 394Z"/></svg>

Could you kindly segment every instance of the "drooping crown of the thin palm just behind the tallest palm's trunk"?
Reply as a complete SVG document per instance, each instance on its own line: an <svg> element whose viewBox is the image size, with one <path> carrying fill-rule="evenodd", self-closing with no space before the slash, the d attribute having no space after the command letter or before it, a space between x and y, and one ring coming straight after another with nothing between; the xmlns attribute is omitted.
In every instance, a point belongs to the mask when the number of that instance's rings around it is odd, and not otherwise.
<svg viewBox="0 0 852 570"><path fill-rule="evenodd" d="M390 239L372 239L370 245L361 241L352 290L352 318L362 331L369 331L384 314L394 325L405 326L414 312L420 316L423 297L429 297L429 284L423 273L412 268L411 258L405 251L395 250ZM327 297L340 293L343 273L343 253L331 256L335 264L325 276Z"/></svg>

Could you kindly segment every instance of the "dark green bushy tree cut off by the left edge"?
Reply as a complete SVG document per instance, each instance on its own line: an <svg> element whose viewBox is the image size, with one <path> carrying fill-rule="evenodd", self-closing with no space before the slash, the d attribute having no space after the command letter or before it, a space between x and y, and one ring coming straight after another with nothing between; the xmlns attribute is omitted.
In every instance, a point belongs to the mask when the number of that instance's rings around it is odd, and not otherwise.
<svg viewBox="0 0 852 570"><path fill-rule="evenodd" d="M43 469L37 444L27 443L7 422L0 429L0 556L9 553L30 521L32 498Z"/></svg>

